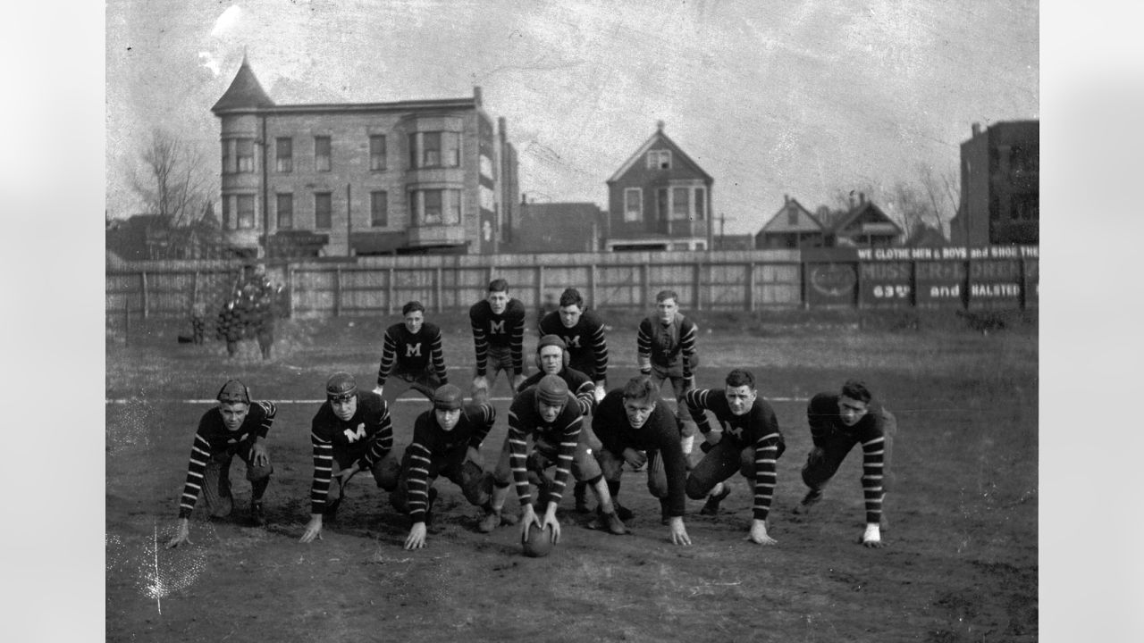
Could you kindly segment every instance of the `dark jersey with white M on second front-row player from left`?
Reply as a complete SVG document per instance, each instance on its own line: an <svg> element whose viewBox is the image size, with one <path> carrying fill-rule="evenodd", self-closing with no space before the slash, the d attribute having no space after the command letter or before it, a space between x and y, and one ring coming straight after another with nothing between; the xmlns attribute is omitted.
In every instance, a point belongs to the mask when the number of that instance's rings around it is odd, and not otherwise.
<svg viewBox="0 0 1144 643"><path fill-rule="evenodd" d="M313 416L310 430L310 443L313 445L311 514L320 514L325 509L335 459L340 469L357 462L362 470L368 471L394 447L394 427L386 400L373 391L360 389L357 396L358 407L349 420L334 415L328 400Z"/></svg>

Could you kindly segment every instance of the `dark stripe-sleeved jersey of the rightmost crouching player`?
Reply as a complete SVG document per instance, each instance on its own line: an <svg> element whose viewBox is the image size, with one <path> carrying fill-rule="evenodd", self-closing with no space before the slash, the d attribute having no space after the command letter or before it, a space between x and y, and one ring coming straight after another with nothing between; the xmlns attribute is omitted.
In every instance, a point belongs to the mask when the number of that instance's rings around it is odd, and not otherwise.
<svg viewBox="0 0 1144 643"><path fill-rule="evenodd" d="M841 460L853 447L861 444L861 489L866 499L866 522L882 519L882 473L885 457L885 429L882 405L871 400L866 415L848 427L839 414L837 394L820 392L807 405L807 422L815 446L826 450Z"/></svg>

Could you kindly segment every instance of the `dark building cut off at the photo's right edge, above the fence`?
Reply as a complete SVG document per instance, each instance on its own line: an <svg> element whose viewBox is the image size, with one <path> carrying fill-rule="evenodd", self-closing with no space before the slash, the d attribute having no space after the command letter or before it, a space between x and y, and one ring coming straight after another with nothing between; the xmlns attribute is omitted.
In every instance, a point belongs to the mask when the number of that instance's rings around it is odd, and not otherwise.
<svg viewBox="0 0 1144 643"><path fill-rule="evenodd" d="M961 144L961 208L950 222L954 245L1038 244L1041 124L995 122Z"/></svg>

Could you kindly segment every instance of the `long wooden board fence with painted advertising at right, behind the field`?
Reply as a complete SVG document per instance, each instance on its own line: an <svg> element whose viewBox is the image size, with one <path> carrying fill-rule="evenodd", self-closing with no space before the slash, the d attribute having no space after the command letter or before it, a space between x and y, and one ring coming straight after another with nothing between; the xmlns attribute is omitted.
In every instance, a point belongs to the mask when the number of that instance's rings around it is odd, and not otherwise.
<svg viewBox="0 0 1144 643"><path fill-rule="evenodd" d="M109 331L133 320L208 323L233 291L241 261L132 262L108 268ZM494 278L529 310L578 288L598 309L649 309L670 288L684 310L774 308L1023 309L1038 304L1038 247L821 248L422 255L264 262L283 287L284 316L394 315L410 300L463 312Z"/></svg>

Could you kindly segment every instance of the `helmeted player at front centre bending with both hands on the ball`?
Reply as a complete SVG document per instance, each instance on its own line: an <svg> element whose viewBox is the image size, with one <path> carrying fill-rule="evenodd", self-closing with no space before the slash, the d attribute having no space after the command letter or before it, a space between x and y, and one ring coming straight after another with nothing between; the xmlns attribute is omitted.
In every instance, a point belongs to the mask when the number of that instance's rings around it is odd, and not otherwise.
<svg viewBox="0 0 1144 643"><path fill-rule="evenodd" d="M556 508L572 475L586 481L596 492L601 526L612 533L627 533L612 507L599 465L588 452L588 445L580 439L582 424L583 416L575 398L564 380L556 375L545 375L535 386L516 396L508 410L508 436L493 474L492 509L482 521L480 531L490 532L501 524L508 487L515 484L521 501L521 538L524 539L529 525L534 524L541 530L551 526L553 542L559 542L561 523L556 519ZM533 450L527 455L530 435L533 436ZM556 465L556 475L549 482L545 469L553 463ZM537 516L532 506L530 469L540 481L538 501L546 503L543 519Z"/></svg>

